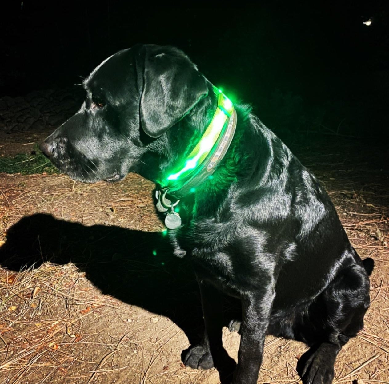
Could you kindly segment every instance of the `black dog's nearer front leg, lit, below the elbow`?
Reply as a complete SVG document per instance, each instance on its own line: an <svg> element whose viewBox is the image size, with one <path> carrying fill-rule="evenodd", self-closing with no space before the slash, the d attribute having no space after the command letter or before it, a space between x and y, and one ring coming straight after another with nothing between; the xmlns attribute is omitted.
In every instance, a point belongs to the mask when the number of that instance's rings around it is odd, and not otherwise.
<svg viewBox="0 0 389 384"><path fill-rule="evenodd" d="M273 298L272 286L262 294L250 292L242 295L241 338L234 384L255 384L258 380Z"/></svg>

